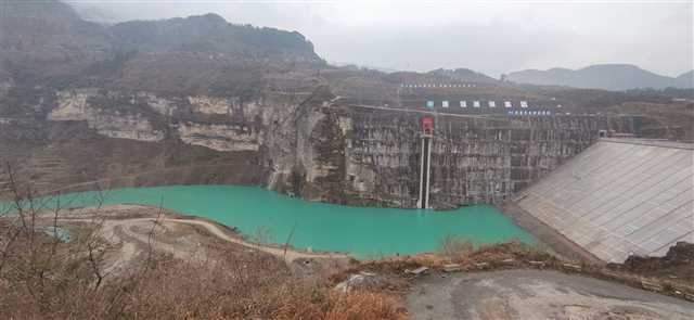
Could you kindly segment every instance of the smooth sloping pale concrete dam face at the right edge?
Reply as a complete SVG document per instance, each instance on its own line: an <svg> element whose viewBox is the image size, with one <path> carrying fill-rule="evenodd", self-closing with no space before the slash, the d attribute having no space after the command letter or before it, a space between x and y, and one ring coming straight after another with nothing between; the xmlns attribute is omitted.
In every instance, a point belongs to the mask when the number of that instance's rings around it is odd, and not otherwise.
<svg viewBox="0 0 694 320"><path fill-rule="evenodd" d="M601 139L518 199L528 214L603 261L663 256L694 242L694 145Z"/></svg>

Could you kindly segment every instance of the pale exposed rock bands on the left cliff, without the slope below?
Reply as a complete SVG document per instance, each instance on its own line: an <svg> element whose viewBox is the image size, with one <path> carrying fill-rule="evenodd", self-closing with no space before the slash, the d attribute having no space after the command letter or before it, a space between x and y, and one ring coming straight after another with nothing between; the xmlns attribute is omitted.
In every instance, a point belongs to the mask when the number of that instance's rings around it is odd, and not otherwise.
<svg viewBox="0 0 694 320"><path fill-rule="evenodd" d="M150 92L106 92L98 89L59 91L50 121L87 121L110 138L162 141L166 132L191 145L216 151L258 151L261 119L258 102L239 98L163 98Z"/></svg>

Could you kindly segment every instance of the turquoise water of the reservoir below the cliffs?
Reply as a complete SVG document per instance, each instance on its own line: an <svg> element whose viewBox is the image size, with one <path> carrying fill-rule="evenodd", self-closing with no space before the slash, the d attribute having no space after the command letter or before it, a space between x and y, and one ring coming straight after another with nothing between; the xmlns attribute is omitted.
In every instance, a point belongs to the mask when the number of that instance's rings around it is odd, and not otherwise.
<svg viewBox="0 0 694 320"><path fill-rule="evenodd" d="M98 204L94 192L63 195L61 206L93 206ZM344 252L359 258L434 252L448 235L476 244L535 242L511 219L486 205L449 212L350 207L233 185L117 189L103 195L103 205L162 204L184 215L236 227L246 238L267 243L283 244L294 229L291 244L296 248Z"/></svg>

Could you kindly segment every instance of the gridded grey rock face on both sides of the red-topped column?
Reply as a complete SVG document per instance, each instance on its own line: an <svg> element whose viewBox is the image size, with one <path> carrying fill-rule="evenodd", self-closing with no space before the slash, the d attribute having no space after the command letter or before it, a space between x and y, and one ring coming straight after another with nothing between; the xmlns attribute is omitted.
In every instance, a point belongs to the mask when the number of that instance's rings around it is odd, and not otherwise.
<svg viewBox="0 0 694 320"><path fill-rule="evenodd" d="M339 117L351 125L345 135L347 190L401 207L417 207L422 158L430 166L429 207L499 204L588 148L599 132L593 116L441 114L430 138L422 139L419 114L350 108ZM423 150L430 156L422 157Z"/></svg>

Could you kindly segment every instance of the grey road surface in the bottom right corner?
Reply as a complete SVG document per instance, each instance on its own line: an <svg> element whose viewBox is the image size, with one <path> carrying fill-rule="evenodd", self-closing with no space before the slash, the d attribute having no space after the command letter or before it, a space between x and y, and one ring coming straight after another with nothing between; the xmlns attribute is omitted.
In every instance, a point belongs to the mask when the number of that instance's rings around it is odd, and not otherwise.
<svg viewBox="0 0 694 320"><path fill-rule="evenodd" d="M408 296L412 319L694 319L694 304L556 271L432 274Z"/></svg>

